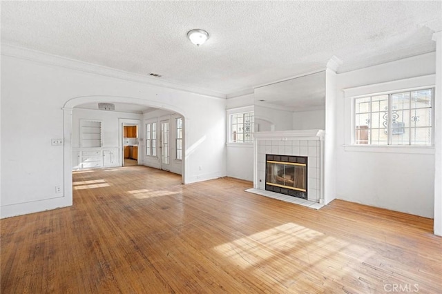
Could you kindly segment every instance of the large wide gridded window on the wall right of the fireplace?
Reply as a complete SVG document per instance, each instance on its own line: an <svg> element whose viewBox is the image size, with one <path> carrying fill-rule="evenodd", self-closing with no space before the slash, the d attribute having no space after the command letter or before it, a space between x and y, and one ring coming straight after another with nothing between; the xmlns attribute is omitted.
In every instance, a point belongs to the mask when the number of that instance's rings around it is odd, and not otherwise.
<svg viewBox="0 0 442 294"><path fill-rule="evenodd" d="M433 144L434 88L354 99L354 144Z"/></svg>

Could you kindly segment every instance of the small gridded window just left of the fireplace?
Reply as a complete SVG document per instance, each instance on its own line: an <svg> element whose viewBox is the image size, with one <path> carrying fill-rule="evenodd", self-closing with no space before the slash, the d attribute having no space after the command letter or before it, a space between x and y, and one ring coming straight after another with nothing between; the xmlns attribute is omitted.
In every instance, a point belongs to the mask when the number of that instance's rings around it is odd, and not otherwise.
<svg viewBox="0 0 442 294"><path fill-rule="evenodd" d="M253 142L253 112L242 112L230 115L230 142Z"/></svg>

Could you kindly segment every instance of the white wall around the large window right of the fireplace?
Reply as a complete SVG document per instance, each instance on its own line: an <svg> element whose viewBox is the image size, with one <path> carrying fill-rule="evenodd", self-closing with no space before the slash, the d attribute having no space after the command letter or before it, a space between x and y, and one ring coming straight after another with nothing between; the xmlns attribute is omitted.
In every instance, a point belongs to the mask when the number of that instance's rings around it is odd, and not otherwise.
<svg viewBox="0 0 442 294"><path fill-rule="evenodd" d="M398 84L412 87L423 80L422 83L427 84L427 78L413 79L415 85L410 80L403 83L398 80L432 75L434 64L434 53L429 53L337 75L337 198L433 217L434 148L344 146L351 144L352 132L351 97L346 97L344 90L372 94L376 89L388 90ZM423 84L421 86L427 86Z"/></svg>

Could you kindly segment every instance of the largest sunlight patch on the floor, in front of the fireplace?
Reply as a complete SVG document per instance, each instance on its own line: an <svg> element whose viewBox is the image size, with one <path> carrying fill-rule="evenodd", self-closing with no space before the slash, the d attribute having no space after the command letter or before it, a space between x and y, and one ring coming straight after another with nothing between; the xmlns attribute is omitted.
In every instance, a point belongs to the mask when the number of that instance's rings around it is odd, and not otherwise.
<svg viewBox="0 0 442 294"><path fill-rule="evenodd" d="M213 250L229 259L234 266L253 271L257 277L270 273L278 284L291 288L309 276L309 269L327 268L325 277L345 277L349 264L361 264L374 254L369 249L325 235L294 223L282 224ZM322 284L323 277L308 277Z"/></svg>

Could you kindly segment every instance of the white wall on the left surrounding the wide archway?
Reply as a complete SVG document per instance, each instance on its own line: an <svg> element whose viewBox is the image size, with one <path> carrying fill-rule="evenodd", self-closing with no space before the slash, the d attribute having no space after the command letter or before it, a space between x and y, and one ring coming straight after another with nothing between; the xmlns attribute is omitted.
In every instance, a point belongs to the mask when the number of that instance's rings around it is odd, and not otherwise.
<svg viewBox="0 0 442 294"><path fill-rule="evenodd" d="M64 155L70 148L50 144L52 138L71 144L65 105L139 101L179 112L186 121L186 182L227 174L225 99L152 86L138 75L37 52L5 55L2 47L2 55L1 217L72 204L70 157ZM28 60L34 58L39 61ZM55 193L55 186L63 186L64 193Z"/></svg>

